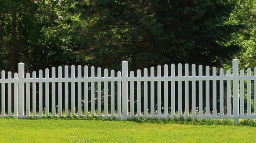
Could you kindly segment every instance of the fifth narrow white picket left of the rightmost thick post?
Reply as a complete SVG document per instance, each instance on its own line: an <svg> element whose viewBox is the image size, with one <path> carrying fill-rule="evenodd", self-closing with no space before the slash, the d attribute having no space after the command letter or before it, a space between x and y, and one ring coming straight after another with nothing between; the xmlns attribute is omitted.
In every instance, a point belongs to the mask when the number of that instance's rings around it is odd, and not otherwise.
<svg viewBox="0 0 256 143"><path fill-rule="evenodd" d="M199 65L199 77L202 77L203 76L203 66L202 65ZM203 81L200 80L198 81L199 82L199 86L198 86L198 91L199 91L199 115L203 115Z"/></svg>

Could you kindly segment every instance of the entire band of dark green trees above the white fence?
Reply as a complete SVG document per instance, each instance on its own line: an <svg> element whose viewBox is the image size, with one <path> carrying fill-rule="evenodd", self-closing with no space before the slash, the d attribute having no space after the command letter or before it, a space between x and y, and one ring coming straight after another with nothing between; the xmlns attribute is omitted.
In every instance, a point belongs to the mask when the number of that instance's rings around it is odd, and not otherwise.
<svg viewBox="0 0 256 143"><path fill-rule="evenodd" d="M255 66L255 0L0 0L0 70ZM248 64L250 61L250 64Z"/></svg>

